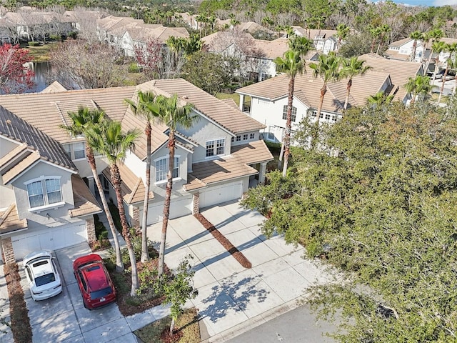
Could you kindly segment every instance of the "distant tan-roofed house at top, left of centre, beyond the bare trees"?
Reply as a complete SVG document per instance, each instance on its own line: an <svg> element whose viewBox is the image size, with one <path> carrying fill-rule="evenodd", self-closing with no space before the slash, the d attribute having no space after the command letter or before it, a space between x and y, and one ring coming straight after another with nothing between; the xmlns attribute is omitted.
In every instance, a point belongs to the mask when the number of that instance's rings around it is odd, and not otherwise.
<svg viewBox="0 0 457 343"><path fill-rule="evenodd" d="M135 46L144 46L149 39L157 39L161 44L165 44L171 36L189 37L189 32L184 27L144 24L142 19L116 16L97 20L97 32L100 41L114 46L126 56L135 56Z"/></svg>

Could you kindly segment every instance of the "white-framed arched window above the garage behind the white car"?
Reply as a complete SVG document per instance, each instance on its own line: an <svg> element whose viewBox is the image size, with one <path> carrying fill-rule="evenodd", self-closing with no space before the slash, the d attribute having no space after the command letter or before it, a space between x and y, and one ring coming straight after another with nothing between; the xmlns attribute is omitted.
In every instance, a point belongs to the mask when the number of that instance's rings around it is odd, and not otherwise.
<svg viewBox="0 0 457 343"><path fill-rule="evenodd" d="M48 189L51 187L51 185L48 185L47 182L51 180L56 180L59 182L59 190L56 189ZM56 175L50 175L50 176L44 176L41 175L41 177L37 177L35 179L31 179L27 182L24 182L24 185L26 186L26 192L27 192L27 198L29 199L29 211L30 212L41 212L44 209L49 209L49 208L57 208L64 206L65 202L63 200L62 196L62 186L61 186L61 176L56 176ZM29 189L29 185L31 184L36 184L36 191L41 191L36 192L36 194L30 194L31 189ZM60 200L56 202L49 202L49 199L51 198L50 195L59 192L60 194ZM42 203L39 206L32 206L31 205L31 197L37 197L41 195Z"/></svg>

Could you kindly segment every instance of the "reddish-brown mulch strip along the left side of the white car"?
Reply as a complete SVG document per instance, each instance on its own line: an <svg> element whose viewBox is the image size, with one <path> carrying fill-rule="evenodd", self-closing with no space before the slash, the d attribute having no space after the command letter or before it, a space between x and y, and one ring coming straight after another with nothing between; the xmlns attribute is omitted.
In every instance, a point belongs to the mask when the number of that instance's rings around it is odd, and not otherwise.
<svg viewBox="0 0 457 343"><path fill-rule="evenodd" d="M31 343L31 326L29 310L24 300L21 277L17 263L4 266L6 288L9 296L9 313L11 315L11 332L15 343ZM1 333L0 333L1 334Z"/></svg>

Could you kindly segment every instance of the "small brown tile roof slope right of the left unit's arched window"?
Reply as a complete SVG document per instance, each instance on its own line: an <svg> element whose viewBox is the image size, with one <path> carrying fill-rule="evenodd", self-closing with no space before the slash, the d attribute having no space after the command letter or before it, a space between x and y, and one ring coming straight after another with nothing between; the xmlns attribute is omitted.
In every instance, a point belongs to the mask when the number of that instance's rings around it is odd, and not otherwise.
<svg viewBox="0 0 457 343"><path fill-rule="evenodd" d="M101 212L99 202L87 187L79 175L71 175L71 186L73 187L74 209L69 210L71 218L87 216Z"/></svg>

